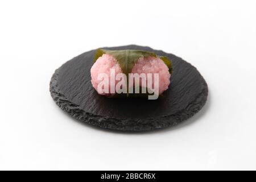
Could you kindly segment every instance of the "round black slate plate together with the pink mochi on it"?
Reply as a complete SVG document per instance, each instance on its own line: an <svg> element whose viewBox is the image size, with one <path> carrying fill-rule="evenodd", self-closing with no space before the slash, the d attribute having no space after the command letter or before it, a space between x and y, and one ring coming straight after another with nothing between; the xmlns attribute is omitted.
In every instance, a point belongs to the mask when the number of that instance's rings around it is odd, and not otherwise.
<svg viewBox="0 0 256 182"><path fill-rule="evenodd" d="M208 96L207 82L192 64L137 45L75 56L56 69L49 90L77 121L120 131L175 126L196 114Z"/></svg>

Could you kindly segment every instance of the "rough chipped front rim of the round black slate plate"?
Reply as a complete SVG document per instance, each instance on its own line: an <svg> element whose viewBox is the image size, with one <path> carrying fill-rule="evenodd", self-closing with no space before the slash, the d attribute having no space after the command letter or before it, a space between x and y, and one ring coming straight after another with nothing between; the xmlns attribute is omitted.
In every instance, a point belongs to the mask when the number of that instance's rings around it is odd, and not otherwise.
<svg viewBox="0 0 256 182"><path fill-rule="evenodd" d="M183 59L181 60L184 61ZM66 111L69 115L71 115L73 118L76 118L81 122L88 123L93 126L102 127L105 129L123 130L123 131L149 131L149 130L163 129L166 127L175 126L178 123L188 118L191 118L193 115L195 115L205 105L205 102L207 101L207 96L208 96L207 83L205 82L204 78L200 75L201 82L203 83L203 86L204 86L202 92L195 99L195 101L191 102L191 104L185 107L185 109L180 110L179 113L159 117L157 119L158 121L156 121L155 118L145 118L145 119L144 118L143 119L107 118L107 117L102 117L100 115L90 114L80 109L79 105L68 101L68 99L64 96L64 94L60 92L60 88L58 85L58 75L59 75L59 69L56 69L55 73L51 78L50 88L49 88L51 92L51 96L53 100L56 102L56 104L62 110Z"/></svg>

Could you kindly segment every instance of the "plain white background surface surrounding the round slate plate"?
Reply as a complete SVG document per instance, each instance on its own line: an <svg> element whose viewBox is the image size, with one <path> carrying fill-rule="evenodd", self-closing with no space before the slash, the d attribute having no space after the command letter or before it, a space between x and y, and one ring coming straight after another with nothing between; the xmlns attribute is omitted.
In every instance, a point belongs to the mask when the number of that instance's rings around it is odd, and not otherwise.
<svg viewBox="0 0 256 182"><path fill-rule="evenodd" d="M256 169L255 1L0 1L0 169ZM192 63L207 105L150 133L77 122L53 102L56 68L138 44Z"/></svg>

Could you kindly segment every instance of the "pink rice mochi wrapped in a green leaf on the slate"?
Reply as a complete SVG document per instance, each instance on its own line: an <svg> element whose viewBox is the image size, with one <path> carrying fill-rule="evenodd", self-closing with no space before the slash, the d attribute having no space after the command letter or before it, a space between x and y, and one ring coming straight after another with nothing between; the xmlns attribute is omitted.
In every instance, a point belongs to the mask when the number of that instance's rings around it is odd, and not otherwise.
<svg viewBox="0 0 256 182"><path fill-rule="evenodd" d="M156 99L170 85L171 61L153 52L98 49L90 69L98 94L115 97L144 96Z"/></svg>

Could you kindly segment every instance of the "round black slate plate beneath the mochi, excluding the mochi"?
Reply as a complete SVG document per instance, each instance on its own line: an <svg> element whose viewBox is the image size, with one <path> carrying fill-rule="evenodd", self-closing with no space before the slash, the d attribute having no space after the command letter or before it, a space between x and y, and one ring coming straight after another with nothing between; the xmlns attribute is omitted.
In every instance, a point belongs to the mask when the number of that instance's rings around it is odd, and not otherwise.
<svg viewBox="0 0 256 182"><path fill-rule="evenodd" d="M169 57L174 67L171 84L158 100L100 96L90 82L96 50L82 53L57 69L50 82L53 100L79 121L114 130L155 130L192 117L207 101L208 88L204 78L180 57L135 45L105 49L141 49Z"/></svg>

